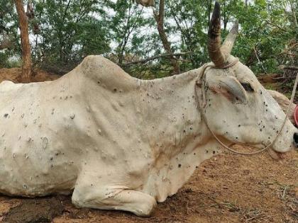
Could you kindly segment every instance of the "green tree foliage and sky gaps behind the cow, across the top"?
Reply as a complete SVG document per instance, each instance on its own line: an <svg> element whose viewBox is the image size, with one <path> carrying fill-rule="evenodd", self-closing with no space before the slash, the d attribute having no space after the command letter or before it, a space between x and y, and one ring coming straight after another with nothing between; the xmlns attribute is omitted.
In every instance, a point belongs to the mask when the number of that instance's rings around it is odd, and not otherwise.
<svg viewBox="0 0 298 223"><path fill-rule="evenodd" d="M133 0L33 0L33 4L30 39L34 64L40 67L63 73L87 55L126 64L166 53L152 8ZM172 52L191 52L177 58L182 72L209 62L206 33L213 5L213 0L165 1L165 32ZM295 13L298 16L295 0L221 0L223 39L238 20L240 33L232 53L256 74L280 72L280 65L297 66ZM0 51L1 67L18 61L21 38L13 1L0 0L0 41L7 37L14 44ZM124 68L143 79L172 72L170 59L164 57Z"/></svg>

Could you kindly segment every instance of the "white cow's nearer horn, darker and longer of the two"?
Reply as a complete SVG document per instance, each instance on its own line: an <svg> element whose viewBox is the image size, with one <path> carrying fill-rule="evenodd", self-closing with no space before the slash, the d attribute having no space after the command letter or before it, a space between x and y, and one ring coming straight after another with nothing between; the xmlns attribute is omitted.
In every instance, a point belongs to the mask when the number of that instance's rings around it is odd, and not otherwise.
<svg viewBox="0 0 298 223"><path fill-rule="evenodd" d="M221 6L215 2L208 31L208 52L216 67L223 67L226 62L225 55L221 52Z"/></svg>

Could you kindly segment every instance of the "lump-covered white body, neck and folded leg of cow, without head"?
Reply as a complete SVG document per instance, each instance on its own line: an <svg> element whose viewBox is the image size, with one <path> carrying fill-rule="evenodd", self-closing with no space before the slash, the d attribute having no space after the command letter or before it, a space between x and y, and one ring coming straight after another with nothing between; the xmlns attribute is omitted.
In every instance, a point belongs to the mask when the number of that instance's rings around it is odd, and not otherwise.
<svg viewBox="0 0 298 223"><path fill-rule="evenodd" d="M2 82L0 192L74 190L78 207L150 215L219 153L197 110L200 72L143 81L89 56L55 81Z"/></svg>

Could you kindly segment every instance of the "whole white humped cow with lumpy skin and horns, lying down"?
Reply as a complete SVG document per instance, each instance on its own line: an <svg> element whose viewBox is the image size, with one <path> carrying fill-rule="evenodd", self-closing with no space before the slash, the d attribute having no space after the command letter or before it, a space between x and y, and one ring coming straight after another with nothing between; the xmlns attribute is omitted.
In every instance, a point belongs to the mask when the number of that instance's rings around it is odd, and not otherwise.
<svg viewBox="0 0 298 223"><path fill-rule="evenodd" d="M0 193L72 194L77 207L149 216L221 144L282 154L298 131L231 48L221 46L220 6L209 28L209 64L140 80L89 56L43 83L0 84ZM276 140L274 138L277 137Z"/></svg>

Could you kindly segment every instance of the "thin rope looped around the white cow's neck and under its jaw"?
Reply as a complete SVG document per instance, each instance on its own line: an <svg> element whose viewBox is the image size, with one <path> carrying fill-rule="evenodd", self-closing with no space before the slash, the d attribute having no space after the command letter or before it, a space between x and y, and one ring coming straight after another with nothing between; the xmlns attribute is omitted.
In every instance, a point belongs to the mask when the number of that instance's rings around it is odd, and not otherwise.
<svg viewBox="0 0 298 223"><path fill-rule="evenodd" d="M280 132L282 132L282 129L285 127L285 122L287 122L287 118L288 118L288 115L289 115L289 108L291 108L291 104L293 103L294 101L294 95L295 95L295 92L296 92L296 88L297 88L297 83L298 83L298 73L296 75L296 79L295 79L295 83L294 83L294 87L293 87L293 91L292 91L292 96L291 96L291 99L290 99L290 103L289 103L289 106L287 107L287 113L286 113L286 116L285 116L285 120L282 122L282 126L280 127L280 130L277 132L277 135L275 135L275 138L272 140L272 142L270 142L269 144L267 144L267 146L263 149L259 149L258 151L254 151L254 152L249 152L249 153L245 153L245 152L241 152L241 151L236 151L234 149L231 149L230 147L226 146L226 144L224 144L223 142L221 142L221 139L219 139L218 137L216 137L216 135L214 134L214 132L211 130L211 128L209 127L208 125L208 122L207 122L207 119L206 119L206 115L204 114L204 103L206 103L206 100L205 100L205 91L204 91L204 86L202 86L202 79L204 77L204 74L205 74L205 71L207 68L213 68L213 69L228 69L230 67L233 67L235 64L238 63L238 58L236 58L233 62L231 62L230 64L227 64L226 66L224 67L215 67L214 65L211 65L211 64L204 64L203 68L202 68L202 72L199 74L199 82L197 82L197 85L198 86L201 86L202 88L202 99L203 99L203 104L201 106L201 104L199 103L199 100L198 100L198 96L197 96L197 87L194 86L194 91L196 92L195 93L195 97L196 97L196 100L197 100L197 108L199 108L201 114L202 114L202 117L204 119L204 122L206 123L206 126L208 128L208 130L211 132L211 135L213 135L213 137L217 140L217 142L219 142L219 144L221 144L222 147L224 147L225 149L228 149L228 151L231 151L233 152L234 154L239 154L239 155L254 155L254 154L260 154L261 152L269 149L269 147L272 146L272 144L275 143L277 137L280 136Z"/></svg>

